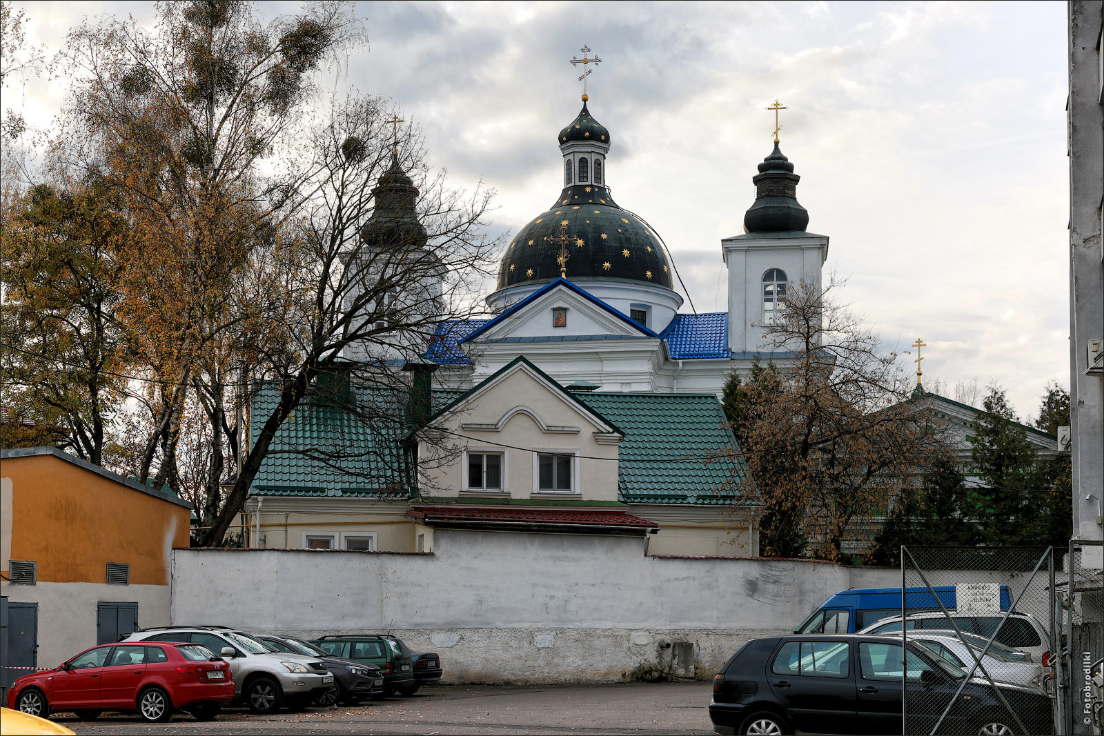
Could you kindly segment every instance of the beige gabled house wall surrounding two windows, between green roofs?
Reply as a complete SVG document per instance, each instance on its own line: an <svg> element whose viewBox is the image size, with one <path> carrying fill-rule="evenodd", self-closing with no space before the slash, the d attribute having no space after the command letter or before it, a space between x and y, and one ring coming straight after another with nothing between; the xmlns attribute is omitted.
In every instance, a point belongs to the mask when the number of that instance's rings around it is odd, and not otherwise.
<svg viewBox="0 0 1104 736"><path fill-rule="evenodd" d="M440 417L434 428L458 442L460 455L446 457L438 447L421 442L420 482L426 495L617 500L616 438L524 366ZM501 492L467 488L468 451L502 455L506 488ZM534 476L539 451L576 456L572 493L540 492Z"/></svg>

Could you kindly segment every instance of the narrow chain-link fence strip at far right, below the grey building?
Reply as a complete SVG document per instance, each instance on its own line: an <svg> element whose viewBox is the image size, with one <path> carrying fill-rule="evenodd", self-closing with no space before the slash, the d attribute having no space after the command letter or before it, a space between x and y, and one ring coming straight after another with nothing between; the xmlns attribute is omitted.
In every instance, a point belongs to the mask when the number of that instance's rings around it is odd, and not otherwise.
<svg viewBox="0 0 1104 736"><path fill-rule="evenodd" d="M1062 601L1066 608L1064 638L1069 671L1062 678L1068 704L1066 733L1100 736L1104 702L1093 675L1104 669L1104 542L1071 542Z"/></svg>

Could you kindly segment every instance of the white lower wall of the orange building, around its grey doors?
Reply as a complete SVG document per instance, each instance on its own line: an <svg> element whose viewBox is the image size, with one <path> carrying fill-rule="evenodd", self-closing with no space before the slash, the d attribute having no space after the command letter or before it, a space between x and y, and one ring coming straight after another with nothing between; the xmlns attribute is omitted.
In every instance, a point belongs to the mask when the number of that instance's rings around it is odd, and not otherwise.
<svg viewBox="0 0 1104 736"><path fill-rule="evenodd" d="M2 585L10 602L39 604L39 666L61 664L96 646L96 607L100 602L138 604L141 627L169 623L171 594L167 585L39 583ZM208 619L204 619L208 620Z"/></svg>

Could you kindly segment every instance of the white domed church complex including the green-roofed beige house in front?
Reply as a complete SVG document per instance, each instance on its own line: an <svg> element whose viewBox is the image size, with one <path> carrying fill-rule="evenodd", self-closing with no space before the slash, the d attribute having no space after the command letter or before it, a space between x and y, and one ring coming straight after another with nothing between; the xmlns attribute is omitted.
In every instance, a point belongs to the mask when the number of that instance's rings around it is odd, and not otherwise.
<svg viewBox="0 0 1104 736"><path fill-rule="evenodd" d="M763 326L796 284L819 287L828 237L807 232L776 135L752 177L744 233L720 241L728 311L682 311L661 235L612 194L614 134L588 102L584 90L556 135L562 188L510 239L488 316L440 322L422 351L412 378L432 381L422 429L382 438L350 429L340 407L300 407L251 488L251 546L432 552L434 530L447 527L757 556L757 504L719 398L734 370L785 361ZM386 227L425 243L417 189L397 160L373 194L365 248L384 247ZM350 401L370 401L364 391L349 386ZM263 386L254 404L275 395ZM304 451L339 436L358 448L346 460ZM399 472L404 458L414 473Z"/></svg>

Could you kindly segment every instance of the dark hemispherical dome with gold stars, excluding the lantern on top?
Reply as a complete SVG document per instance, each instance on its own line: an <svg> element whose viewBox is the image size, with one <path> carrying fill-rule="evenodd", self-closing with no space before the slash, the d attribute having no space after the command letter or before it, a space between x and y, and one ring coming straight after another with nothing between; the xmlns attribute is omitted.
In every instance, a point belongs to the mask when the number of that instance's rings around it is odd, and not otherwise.
<svg viewBox="0 0 1104 736"><path fill-rule="evenodd" d="M567 223L563 225L563 223ZM670 263L651 228L622 210L605 186L565 186L551 207L529 221L510 241L498 269L498 288L539 284L564 274L571 281L640 281L673 288Z"/></svg>

